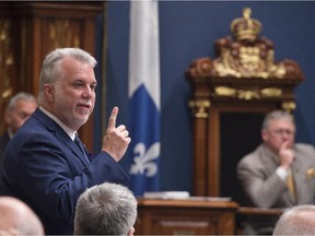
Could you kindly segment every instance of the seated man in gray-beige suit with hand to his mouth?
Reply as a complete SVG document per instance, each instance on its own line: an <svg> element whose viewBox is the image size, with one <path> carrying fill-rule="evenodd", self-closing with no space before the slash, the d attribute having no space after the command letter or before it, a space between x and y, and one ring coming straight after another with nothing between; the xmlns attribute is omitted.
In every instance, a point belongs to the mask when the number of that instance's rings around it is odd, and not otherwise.
<svg viewBox="0 0 315 236"><path fill-rule="evenodd" d="M294 143L293 117L283 111L268 114L262 122L264 141L237 165L237 177L254 206L289 208L313 204L315 150ZM272 234L279 216L250 217L244 234Z"/></svg>

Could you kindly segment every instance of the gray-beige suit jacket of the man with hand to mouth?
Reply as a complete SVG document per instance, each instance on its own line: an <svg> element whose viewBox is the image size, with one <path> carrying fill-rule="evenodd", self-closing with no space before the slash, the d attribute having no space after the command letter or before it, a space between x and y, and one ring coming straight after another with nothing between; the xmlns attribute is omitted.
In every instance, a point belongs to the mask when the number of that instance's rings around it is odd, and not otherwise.
<svg viewBox="0 0 315 236"><path fill-rule="evenodd" d="M244 156L237 165L237 177L254 206L258 208L289 208L294 204L313 204L315 196L315 150L308 144L296 143L293 148L295 161L292 165L293 178L296 189L296 202L292 199L285 182L277 175L279 157L275 155L265 144L260 144L253 153ZM253 220L253 219L252 219ZM277 219L268 219L252 224L254 232L259 234L265 229L273 228ZM256 222L259 222L257 220ZM268 224L267 224L268 222ZM254 226L253 226L254 225Z"/></svg>

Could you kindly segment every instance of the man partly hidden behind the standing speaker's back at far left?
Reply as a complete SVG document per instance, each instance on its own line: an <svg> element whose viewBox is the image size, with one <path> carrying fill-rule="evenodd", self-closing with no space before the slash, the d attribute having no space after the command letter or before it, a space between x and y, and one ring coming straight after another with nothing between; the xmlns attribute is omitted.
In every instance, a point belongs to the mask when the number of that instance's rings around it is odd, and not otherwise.
<svg viewBox="0 0 315 236"><path fill-rule="evenodd" d="M7 131L0 135L0 173L2 172L2 156L7 144L36 107L36 97L25 92L18 93L9 101L4 113Z"/></svg>

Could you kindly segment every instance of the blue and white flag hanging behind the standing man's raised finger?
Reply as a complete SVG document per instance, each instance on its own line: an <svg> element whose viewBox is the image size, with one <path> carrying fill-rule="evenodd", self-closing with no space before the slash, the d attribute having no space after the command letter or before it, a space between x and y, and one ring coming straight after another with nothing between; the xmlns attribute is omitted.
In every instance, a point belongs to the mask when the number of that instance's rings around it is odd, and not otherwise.
<svg viewBox="0 0 315 236"><path fill-rule="evenodd" d="M127 158L136 196L159 190L160 47L158 0L130 1L129 108Z"/></svg>

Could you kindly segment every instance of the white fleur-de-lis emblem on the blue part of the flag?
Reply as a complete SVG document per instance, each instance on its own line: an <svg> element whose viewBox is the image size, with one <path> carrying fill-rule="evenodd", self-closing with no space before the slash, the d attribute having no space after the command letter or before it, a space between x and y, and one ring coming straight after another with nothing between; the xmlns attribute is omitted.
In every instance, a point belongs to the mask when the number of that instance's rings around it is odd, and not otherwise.
<svg viewBox="0 0 315 236"><path fill-rule="evenodd" d="M130 167L130 175L143 175L144 170L147 170L147 177L154 176L158 172L158 166L153 161L160 156L160 142L153 143L147 152L144 143L138 143L133 149L135 164Z"/></svg>

